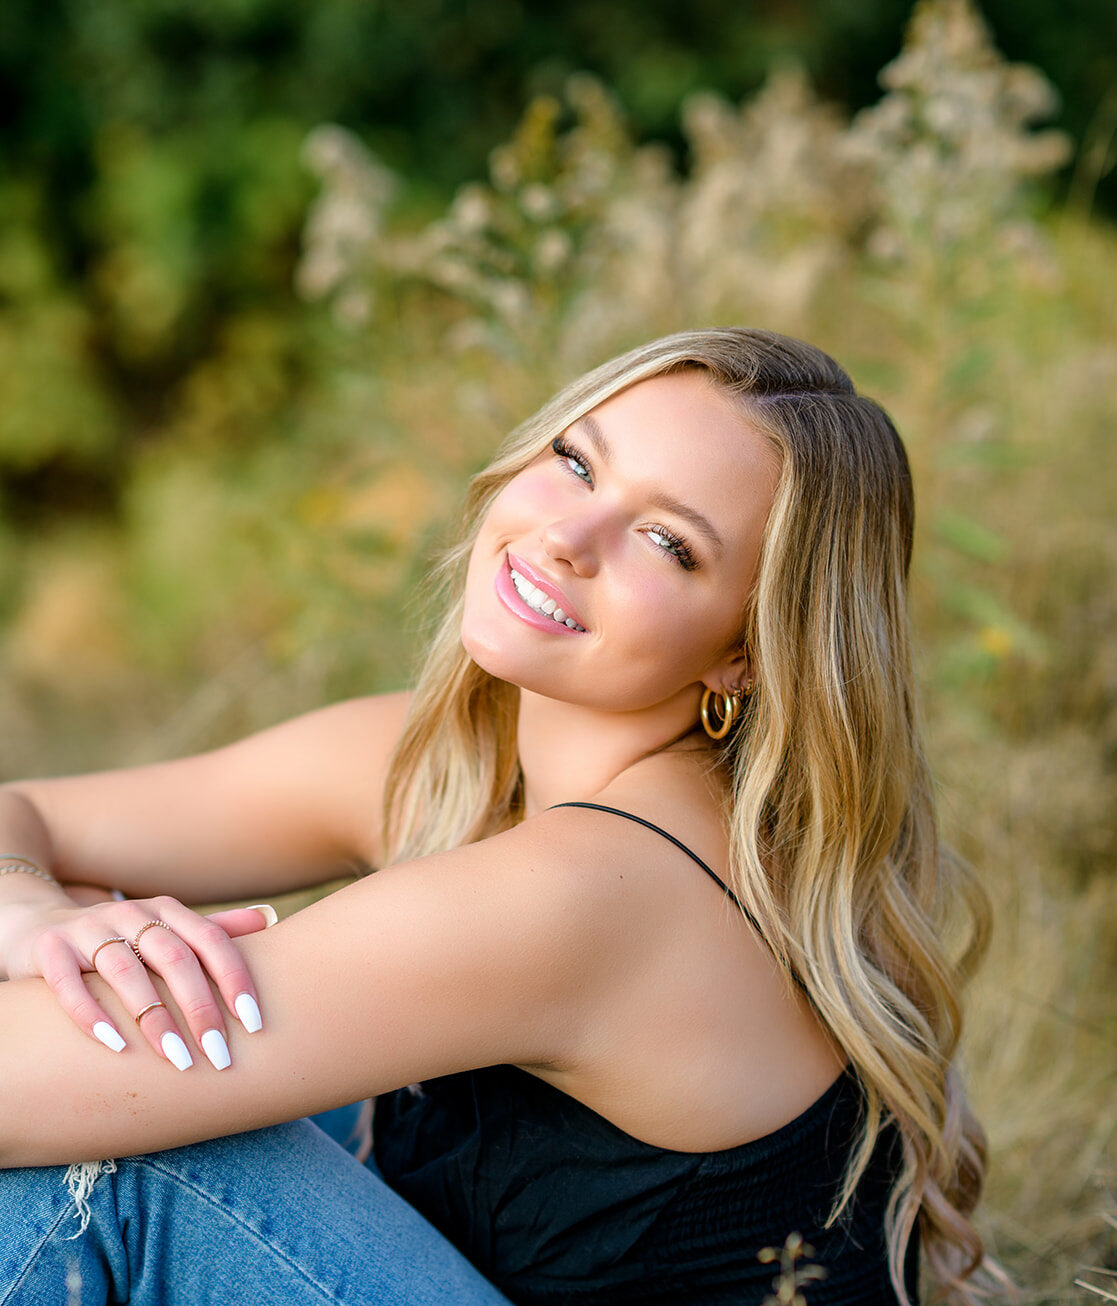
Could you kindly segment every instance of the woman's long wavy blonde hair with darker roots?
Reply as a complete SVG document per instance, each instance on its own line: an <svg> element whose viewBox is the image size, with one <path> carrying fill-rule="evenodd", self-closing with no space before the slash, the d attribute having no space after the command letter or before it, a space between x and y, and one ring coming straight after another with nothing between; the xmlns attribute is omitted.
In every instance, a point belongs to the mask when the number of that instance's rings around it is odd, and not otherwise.
<svg viewBox="0 0 1117 1306"><path fill-rule="evenodd" d="M971 1303L985 1262L969 1222L985 1145L954 1057L959 989L988 905L939 848L911 662L913 498L887 414L820 350L772 332L683 332L563 389L470 487L434 581L444 616L388 778L391 859L460 846L521 816L516 686L461 646L464 572L499 491L572 422L636 381L703 368L779 453L780 475L742 629L758 678L722 754L728 880L805 987L864 1085L864 1127L831 1212L849 1202L894 1121L892 1282L917 1228L931 1282ZM960 936L951 957L946 939ZM996 1267L993 1273L997 1273Z"/></svg>

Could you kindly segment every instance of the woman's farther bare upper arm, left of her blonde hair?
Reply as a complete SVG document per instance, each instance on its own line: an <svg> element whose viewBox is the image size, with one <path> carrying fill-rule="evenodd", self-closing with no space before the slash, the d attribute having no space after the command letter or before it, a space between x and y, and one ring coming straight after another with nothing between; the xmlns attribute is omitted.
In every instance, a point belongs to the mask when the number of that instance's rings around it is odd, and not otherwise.
<svg viewBox="0 0 1117 1306"><path fill-rule="evenodd" d="M5 788L42 816L60 879L195 902L282 892L379 859L408 701L353 699L192 757Z"/></svg>

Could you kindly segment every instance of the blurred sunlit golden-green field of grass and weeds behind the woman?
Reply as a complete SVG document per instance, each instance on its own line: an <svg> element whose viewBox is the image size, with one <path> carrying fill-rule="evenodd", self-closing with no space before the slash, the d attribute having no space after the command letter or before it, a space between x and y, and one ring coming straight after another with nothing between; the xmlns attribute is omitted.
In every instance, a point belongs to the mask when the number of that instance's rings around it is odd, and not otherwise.
<svg viewBox="0 0 1117 1306"><path fill-rule="evenodd" d="M691 97L682 176L579 76L434 214L315 129L290 304L225 317L111 512L5 503L4 776L405 684L412 596L466 477L558 384L686 326L811 340L888 407L916 473L943 825L996 902L965 1036L981 1228L1023 1302L1117 1299L1117 234L1086 154L1043 201L1073 148L1044 129L1050 89L962 0L917 7L882 85L852 120L786 68L742 104ZM110 146L162 193L142 137ZM80 311L21 242L0 239L0 460L103 453ZM102 274L127 347L154 347L175 312L158 251L121 242Z"/></svg>

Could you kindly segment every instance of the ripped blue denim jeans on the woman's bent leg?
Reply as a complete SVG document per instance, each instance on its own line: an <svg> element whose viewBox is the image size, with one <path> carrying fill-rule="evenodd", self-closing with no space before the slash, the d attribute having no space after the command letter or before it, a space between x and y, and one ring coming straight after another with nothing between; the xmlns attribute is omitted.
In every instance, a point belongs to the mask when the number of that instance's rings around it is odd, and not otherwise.
<svg viewBox="0 0 1117 1306"><path fill-rule="evenodd" d="M64 1166L4 1170L0 1306L508 1306L320 1121L116 1161L77 1238Z"/></svg>

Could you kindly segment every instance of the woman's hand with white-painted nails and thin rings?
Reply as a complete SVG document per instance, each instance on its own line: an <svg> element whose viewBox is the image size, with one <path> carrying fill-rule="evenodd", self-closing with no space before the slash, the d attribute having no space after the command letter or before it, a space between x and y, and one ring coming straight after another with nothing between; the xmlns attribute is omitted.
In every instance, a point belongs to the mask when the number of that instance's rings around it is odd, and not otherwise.
<svg viewBox="0 0 1117 1306"><path fill-rule="evenodd" d="M51 908L37 913L12 939L8 977L40 976L84 1033L112 1051L123 1051L121 1030L86 987L84 974L95 970L119 995L124 1010L140 1016L137 1023L152 1047L178 1070L188 1070L193 1063L188 1043L161 1003L148 974L150 968L162 976L186 1017L189 1042L223 1070L229 1066L225 1017L206 976L244 1029L260 1029L256 990L231 940L272 923L272 908L235 908L205 917L171 897ZM142 961L131 940L137 940Z"/></svg>

